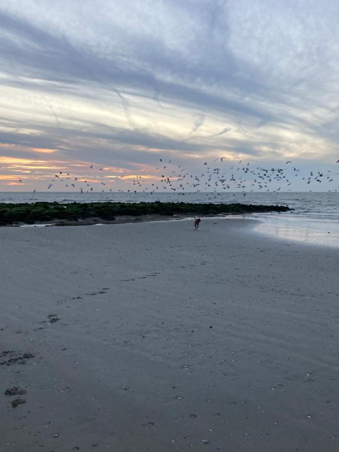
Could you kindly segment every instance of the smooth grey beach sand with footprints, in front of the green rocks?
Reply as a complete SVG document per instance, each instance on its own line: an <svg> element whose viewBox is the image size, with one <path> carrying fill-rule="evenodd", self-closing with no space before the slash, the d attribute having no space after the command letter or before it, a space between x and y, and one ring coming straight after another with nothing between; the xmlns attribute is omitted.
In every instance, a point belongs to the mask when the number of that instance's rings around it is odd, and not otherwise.
<svg viewBox="0 0 339 452"><path fill-rule="evenodd" d="M254 223L1 228L0 450L338 451L338 252Z"/></svg>

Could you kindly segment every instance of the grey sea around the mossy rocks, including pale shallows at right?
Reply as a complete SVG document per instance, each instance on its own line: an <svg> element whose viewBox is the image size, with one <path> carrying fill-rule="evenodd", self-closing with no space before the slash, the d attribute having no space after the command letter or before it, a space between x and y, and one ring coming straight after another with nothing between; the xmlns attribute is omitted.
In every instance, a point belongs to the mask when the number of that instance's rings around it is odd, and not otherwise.
<svg viewBox="0 0 339 452"><path fill-rule="evenodd" d="M256 218L258 234L282 240L339 248L339 192L0 192L0 202L211 202L287 205L294 209L282 213L253 213L242 217ZM229 216L228 216L229 217ZM239 215L237 216L239 217Z"/></svg>

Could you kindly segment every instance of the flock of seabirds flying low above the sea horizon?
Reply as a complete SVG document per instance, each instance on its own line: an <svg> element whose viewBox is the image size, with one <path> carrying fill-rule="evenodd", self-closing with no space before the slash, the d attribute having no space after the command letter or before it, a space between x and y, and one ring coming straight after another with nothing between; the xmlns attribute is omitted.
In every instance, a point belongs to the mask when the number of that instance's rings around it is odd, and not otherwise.
<svg viewBox="0 0 339 452"><path fill-rule="evenodd" d="M212 162L201 162L201 170L197 174L188 171L181 165L176 166L172 160L159 158L158 166L155 171L152 171L152 176L145 174L146 169L140 174L131 177L126 176L110 176L105 168L95 168L94 164L89 165L88 169L93 172L93 176L89 176L88 181L80 176L75 176L70 173L58 171L51 179L47 189L69 187L72 190L79 190L81 193L93 191L112 191L112 188L106 188L107 183L114 183L117 181L125 181L130 188L125 190L117 190L120 192L145 192L153 194L155 192L173 191L180 195L185 193L199 193L199 192L222 192L222 191L242 191L243 196L247 192L253 191L292 191L293 183L302 181L309 186L309 191L314 185L323 187L322 191L337 191L339 187L336 185L337 180L330 170L323 171L308 171L302 170L293 166L292 161L288 160L281 168L263 168L260 166L252 166L249 162L244 162L242 159L233 161L233 163L225 165L225 160L229 162L227 157L218 157ZM336 161L339 163L339 159ZM232 166L231 166L232 165ZM90 174L90 173L89 173ZM335 173L334 173L335 174ZM95 184L100 184L100 190L94 190L90 181L93 182L92 177L95 177ZM108 181L108 179L110 179ZM298 178L298 179L296 179ZM108 182L107 182L108 181ZM22 183L22 180L19 179ZM333 182L328 188L328 183ZM94 185L95 187L95 185ZM300 187L300 184L299 184ZM116 191L116 190L114 190ZM33 192L36 192L34 189Z"/></svg>

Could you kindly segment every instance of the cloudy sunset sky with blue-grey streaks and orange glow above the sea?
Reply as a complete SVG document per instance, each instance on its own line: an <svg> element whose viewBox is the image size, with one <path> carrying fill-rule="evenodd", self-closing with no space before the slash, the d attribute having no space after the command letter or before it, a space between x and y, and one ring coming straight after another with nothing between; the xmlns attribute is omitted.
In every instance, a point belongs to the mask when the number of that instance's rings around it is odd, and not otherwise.
<svg viewBox="0 0 339 452"><path fill-rule="evenodd" d="M335 0L0 2L0 191L151 190L220 157L338 189L338 20Z"/></svg>

